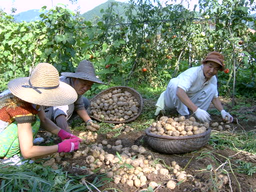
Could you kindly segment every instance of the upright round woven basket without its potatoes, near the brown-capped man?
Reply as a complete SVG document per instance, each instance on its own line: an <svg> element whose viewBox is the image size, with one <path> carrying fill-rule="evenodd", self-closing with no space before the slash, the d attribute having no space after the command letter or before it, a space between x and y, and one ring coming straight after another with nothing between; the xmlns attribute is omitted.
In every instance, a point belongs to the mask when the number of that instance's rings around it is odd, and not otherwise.
<svg viewBox="0 0 256 192"><path fill-rule="evenodd" d="M173 154L190 152L203 147L208 142L211 131L208 128L203 133L191 136L165 136L152 133L149 128L145 130L146 142L157 151Z"/></svg>

